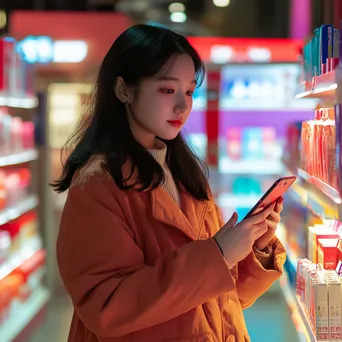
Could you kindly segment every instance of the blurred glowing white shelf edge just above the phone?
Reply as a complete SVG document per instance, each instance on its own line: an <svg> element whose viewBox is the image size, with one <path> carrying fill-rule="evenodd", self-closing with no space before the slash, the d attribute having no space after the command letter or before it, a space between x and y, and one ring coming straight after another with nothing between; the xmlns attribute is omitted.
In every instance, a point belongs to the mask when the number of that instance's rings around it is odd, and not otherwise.
<svg viewBox="0 0 342 342"><path fill-rule="evenodd" d="M231 160L227 157L222 157L219 169L220 172L226 174L278 175L283 172L283 165L279 160Z"/></svg>

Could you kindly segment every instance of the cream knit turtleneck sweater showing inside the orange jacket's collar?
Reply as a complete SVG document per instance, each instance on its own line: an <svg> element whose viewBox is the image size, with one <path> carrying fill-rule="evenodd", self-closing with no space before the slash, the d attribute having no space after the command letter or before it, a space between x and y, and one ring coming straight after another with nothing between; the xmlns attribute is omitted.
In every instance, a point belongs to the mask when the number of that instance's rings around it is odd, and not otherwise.
<svg viewBox="0 0 342 342"><path fill-rule="evenodd" d="M154 149L148 150L154 159L161 165L165 174L165 182L162 184L164 190L170 195L178 206L181 205L179 190L173 180L172 173L166 163L167 146L161 140L156 140Z"/></svg>

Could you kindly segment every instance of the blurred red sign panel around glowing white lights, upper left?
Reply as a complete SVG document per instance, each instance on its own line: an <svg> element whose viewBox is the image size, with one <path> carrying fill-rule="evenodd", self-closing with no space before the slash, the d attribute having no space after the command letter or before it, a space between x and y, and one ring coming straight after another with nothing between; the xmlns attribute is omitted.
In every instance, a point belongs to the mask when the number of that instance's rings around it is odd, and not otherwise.
<svg viewBox="0 0 342 342"><path fill-rule="evenodd" d="M19 41L27 36L84 41L88 53L82 63L39 65L39 70L63 71L72 77L97 69L115 39L131 25L131 19L121 13L14 11L10 34Z"/></svg>

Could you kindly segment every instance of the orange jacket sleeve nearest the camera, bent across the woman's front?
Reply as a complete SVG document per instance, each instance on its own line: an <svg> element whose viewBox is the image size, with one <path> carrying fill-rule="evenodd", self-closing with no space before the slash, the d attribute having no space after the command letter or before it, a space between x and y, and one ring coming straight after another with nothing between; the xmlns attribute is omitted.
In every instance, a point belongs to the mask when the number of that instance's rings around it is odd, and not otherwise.
<svg viewBox="0 0 342 342"><path fill-rule="evenodd" d="M118 201L95 176L69 190L57 259L77 315L99 337L163 323L235 289L213 239L146 265Z"/></svg>

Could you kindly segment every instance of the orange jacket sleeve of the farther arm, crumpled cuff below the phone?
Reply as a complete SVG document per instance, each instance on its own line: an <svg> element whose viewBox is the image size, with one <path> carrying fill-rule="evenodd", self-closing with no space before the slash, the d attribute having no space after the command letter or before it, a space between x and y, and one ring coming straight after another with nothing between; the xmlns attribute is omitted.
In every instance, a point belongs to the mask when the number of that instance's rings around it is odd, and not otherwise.
<svg viewBox="0 0 342 342"><path fill-rule="evenodd" d="M224 222L218 208L217 214L222 227ZM285 248L277 237L271 240L270 245L272 246L273 267L265 269L252 251L237 264L232 272L236 275L236 291L243 309L252 306L283 273L283 266L286 261Z"/></svg>

